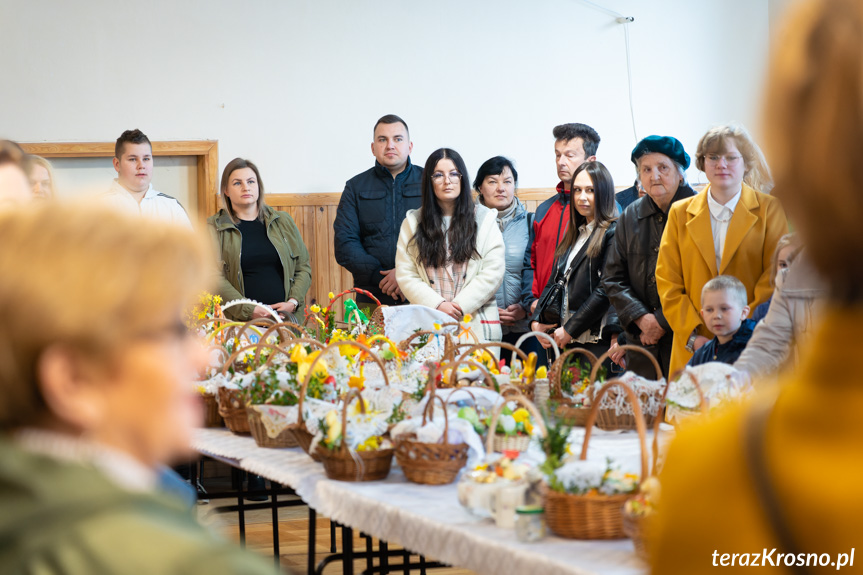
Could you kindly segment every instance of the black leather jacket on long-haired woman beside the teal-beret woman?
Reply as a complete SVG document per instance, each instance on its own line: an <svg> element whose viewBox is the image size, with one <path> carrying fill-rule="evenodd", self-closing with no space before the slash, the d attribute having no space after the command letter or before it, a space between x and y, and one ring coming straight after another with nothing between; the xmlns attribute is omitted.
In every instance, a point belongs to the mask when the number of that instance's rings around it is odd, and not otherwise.
<svg viewBox="0 0 863 575"><path fill-rule="evenodd" d="M608 248L614 243L615 224L616 222L612 222L611 226L605 230L599 255L593 258L588 257L587 246L590 244L590 239L588 239L573 260L573 269L566 286L566 293L569 311L574 313L563 325L566 333L572 337L578 337L588 329L595 335L603 335L600 333L602 318L608 311L609 303L602 287L602 274ZM594 233L602 232L596 230ZM568 254L557 259L549 282L557 281L562 274L566 273L567 259L569 259ZM606 332L609 331L609 328L610 326L606 325Z"/></svg>

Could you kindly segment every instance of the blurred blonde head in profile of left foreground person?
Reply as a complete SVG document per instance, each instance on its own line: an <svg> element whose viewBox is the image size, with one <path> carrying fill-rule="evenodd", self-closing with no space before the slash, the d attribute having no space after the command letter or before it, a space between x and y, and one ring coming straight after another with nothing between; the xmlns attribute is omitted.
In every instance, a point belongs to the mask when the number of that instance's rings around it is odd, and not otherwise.
<svg viewBox="0 0 863 575"><path fill-rule="evenodd" d="M206 361L181 322L206 287L192 232L104 207L0 214L0 430L33 426L145 464L188 450ZM33 265L39 262L39 265Z"/></svg>

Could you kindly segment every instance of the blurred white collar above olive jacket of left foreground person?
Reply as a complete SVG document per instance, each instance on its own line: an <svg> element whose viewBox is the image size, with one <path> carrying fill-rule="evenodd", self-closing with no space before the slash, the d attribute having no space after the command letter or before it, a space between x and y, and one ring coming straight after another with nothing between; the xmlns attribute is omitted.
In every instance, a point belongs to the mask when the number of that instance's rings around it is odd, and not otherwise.
<svg viewBox="0 0 863 575"><path fill-rule="evenodd" d="M15 441L30 453L94 467L127 491L147 492L157 486L159 476L154 469L122 451L95 441L35 428L18 431Z"/></svg>

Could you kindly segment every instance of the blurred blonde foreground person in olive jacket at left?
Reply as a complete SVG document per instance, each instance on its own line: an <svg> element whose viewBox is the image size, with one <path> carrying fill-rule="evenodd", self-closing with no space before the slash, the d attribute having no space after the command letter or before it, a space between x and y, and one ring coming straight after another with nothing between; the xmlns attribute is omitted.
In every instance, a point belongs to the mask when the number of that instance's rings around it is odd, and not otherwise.
<svg viewBox="0 0 863 575"><path fill-rule="evenodd" d="M2 573L273 573L162 488L200 424L205 352L181 316L209 252L139 224L106 206L0 212Z"/></svg>

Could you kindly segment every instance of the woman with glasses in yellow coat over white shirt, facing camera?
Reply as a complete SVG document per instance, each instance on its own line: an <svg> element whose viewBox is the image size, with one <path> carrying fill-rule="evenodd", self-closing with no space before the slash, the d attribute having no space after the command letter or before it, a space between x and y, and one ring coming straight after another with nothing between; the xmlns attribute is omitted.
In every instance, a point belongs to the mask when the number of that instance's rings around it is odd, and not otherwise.
<svg viewBox="0 0 863 575"><path fill-rule="evenodd" d="M721 126L698 143L695 165L710 184L668 213L656 262L662 312L674 331L670 373L713 335L701 321L701 288L718 275L746 286L750 309L770 298L771 261L788 223L764 156L742 127Z"/></svg>

